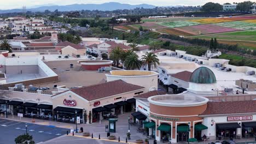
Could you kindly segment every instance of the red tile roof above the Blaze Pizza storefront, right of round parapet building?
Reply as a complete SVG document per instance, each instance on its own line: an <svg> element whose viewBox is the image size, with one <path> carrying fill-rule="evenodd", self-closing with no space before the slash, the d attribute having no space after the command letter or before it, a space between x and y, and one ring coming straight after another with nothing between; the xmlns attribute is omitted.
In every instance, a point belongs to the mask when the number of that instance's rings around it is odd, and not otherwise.
<svg viewBox="0 0 256 144"><path fill-rule="evenodd" d="M209 101L201 115L222 115L256 112L256 100L247 101Z"/></svg>

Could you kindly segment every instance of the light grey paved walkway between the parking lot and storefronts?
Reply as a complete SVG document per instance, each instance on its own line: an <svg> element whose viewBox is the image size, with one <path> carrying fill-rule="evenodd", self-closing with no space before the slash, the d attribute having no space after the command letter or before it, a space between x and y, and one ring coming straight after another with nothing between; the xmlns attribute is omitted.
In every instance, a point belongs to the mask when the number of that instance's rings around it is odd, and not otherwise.
<svg viewBox="0 0 256 144"><path fill-rule="evenodd" d="M123 115L119 115L118 117L118 122L116 123L116 130L117 133L110 133L110 135L114 135L115 137L117 137L117 141L118 141L118 137L120 137L120 141L125 142L126 140L126 133L128 131L128 119L127 117L131 116L131 113L125 113ZM0 115L0 118L5 119L4 115ZM25 118L22 117L20 120L20 117L18 116L11 116L8 115L8 118L11 121L21 121L21 122L27 122L27 123L32 123L32 118ZM40 125L54 125L55 127L59 127L59 128L65 128L65 129L75 129L75 124L72 123L62 123L62 122L55 122L55 121L46 121L43 119L35 119L34 124L40 124ZM101 121L101 123L97 122L97 123L92 123L92 124L78 124L78 130L83 127L84 132L89 132L90 134L93 133L94 135L94 139L98 139L98 136L100 135L101 140L107 140L107 132L105 131L105 125L108 125L108 121L104 120ZM145 135L143 135L142 133L139 133L137 131L137 126L131 125L130 126L130 133L131 133L131 140L128 140L129 143L134 143L136 140L145 140L147 139L147 137ZM90 137L84 137L82 136L82 133L74 133L75 136L80 137L80 138L84 138L84 139L91 139ZM72 135L69 135L72 136ZM153 143L153 139L149 140L149 143ZM210 141L204 141L204 142L197 142L200 144L208 144L210 142L215 142L217 140L210 140ZM255 139L240 139L234 140L237 143L255 143L256 141ZM115 141L116 142L116 141ZM158 143L162 143L162 142L158 142ZM166 142L167 143L167 142ZM182 142L182 143L187 143L187 142Z"/></svg>

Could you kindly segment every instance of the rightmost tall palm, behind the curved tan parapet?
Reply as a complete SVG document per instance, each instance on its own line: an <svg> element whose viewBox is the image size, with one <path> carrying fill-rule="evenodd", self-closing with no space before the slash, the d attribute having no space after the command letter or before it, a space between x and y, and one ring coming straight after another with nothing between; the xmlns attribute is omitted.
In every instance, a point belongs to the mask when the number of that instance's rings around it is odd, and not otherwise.
<svg viewBox="0 0 256 144"><path fill-rule="evenodd" d="M143 55L142 58L142 63L143 65L148 65L148 70L150 71L152 66L154 66L154 68L157 67L157 65L159 65L159 59L158 56L156 56L154 53L152 52L147 52L146 55Z"/></svg>

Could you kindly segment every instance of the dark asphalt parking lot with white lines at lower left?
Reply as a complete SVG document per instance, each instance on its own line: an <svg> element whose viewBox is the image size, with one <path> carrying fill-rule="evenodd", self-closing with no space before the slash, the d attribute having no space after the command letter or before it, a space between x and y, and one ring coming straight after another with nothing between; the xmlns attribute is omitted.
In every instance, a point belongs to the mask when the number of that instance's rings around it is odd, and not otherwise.
<svg viewBox="0 0 256 144"><path fill-rule="evenodd" d="M33 136L33 140L36 143L44 142L55 137L65 135L68 129L56 128L52 125L38 125L33 123L10 121L0 118L0 144L15 143L14 139L27 133Z"/></svg>

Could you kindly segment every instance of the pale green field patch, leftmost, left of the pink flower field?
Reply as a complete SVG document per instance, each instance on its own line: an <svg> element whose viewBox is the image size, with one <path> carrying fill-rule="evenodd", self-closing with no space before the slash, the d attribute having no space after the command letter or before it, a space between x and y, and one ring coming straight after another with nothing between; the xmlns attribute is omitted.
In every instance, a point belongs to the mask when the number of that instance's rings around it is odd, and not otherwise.
<svg viewBox="0 0 256 144"><path fill-rule="evenodd" d="M159 25L163 25L170 28L175 27L186 27L186 26L195 26L200 25L199 22L193 22L193 21L171 21L171 22L161 22Z"/></svg>

